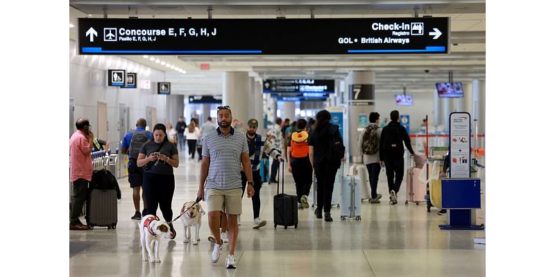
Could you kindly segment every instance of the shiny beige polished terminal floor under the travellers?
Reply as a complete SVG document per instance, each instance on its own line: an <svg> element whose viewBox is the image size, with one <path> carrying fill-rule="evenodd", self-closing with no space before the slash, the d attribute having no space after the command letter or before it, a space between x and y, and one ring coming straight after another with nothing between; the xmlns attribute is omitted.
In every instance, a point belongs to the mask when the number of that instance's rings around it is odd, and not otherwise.
<svg viewBox="0 0 555 277"><path fill-rule="evenodd" d="M175 170L176 192L173 213L196 198L200 163L180 154ZM286 174L286 193L294 194L293 177ZM332 209L334 222L317 220L309 209L299 211L298 229L273 228L273 195L276 185L261 191L262 229L252 229L253 209L244 197L239 242L235 251L237 269L225 269L224 249L219 262L210 262L212 245L207 217L203 217L200 243L183 243L182 223L175 224L175 240L160 246L161 263L142 261L137 221L133 215L132 190L127 179L119 179L122 199L118 203L117 229L96 227L91 231L69 231L70 276L485 276L484 244L474 244L484 231L442 231L446 217L438 209L427 213L424 204L404 205L405 186L399 204L388 204L385 172L379 177L380 204L362 204L361 221L340 220L339 208ZM484 187L484 186L483 186ZM312 197L309 197L310 203ZM204 203L204 206L205 203ZM482 200L482 208L484 201ZM161 213L159 213L161 215ZM83 219L83 222L85 220ZM484 210L477 211L477 224L484 223Z"/></svg>

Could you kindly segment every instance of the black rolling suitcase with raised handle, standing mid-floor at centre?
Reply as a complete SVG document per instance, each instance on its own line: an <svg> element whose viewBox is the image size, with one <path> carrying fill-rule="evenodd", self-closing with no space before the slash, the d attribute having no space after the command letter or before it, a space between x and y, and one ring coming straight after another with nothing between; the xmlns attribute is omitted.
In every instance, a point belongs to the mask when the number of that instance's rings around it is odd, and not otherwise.
<svg viewBox="0 0 555 277"><path fill-rule="evenodd" d="M281 172L282 176L280 179L282 184L282 193L280 193L280 185L278 183L278 194L273 197L273 228L275 229L278 225L281 225L285 226L285 229L287 229L287 226L295 226L295 229L297 229L299 222L297 206L298 199L297 195L286 195L284 193L284 162L282 162Z"/></svg>

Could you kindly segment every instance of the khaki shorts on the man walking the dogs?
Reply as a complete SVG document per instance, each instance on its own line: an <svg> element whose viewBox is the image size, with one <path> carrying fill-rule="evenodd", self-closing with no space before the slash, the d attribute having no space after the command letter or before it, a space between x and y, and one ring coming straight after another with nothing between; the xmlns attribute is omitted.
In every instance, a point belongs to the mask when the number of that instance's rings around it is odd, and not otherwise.
<svg viewBox="0 0 555 277"><path fill-rule="evenodd" d="M241 192L241 188L234 188L232 190L208 188L205 197L208 211L225 211L228 215L241 215L243 212Z"/></svg>

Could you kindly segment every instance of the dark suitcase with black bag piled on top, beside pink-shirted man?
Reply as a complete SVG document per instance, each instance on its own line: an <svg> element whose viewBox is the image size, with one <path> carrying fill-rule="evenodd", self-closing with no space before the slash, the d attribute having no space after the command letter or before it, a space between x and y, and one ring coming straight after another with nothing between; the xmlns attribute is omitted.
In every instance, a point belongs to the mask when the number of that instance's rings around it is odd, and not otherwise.
<svg viewBox="0 0 555 277"><path fill-rule="evenodd" d="M87 225L90 229L94 226L116 229L117 199L121 199L117 179L108 170L98 170L93 173L90 185L85 215Z"/></svg>

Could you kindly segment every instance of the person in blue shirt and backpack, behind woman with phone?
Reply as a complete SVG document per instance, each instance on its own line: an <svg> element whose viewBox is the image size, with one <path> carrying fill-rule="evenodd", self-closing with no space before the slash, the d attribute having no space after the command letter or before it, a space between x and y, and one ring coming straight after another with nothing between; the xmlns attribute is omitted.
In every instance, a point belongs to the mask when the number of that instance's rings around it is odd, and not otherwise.
<svg viewBox="0 0 555 277"><path fill-rule="evenodd" d="M135 204L135 215L131 217L132 220L141 220L141 217L146 215L146 201L144 201L144 190L141 194L141 187L143 185L143 169L137 166L137 157L139 157L139 150L144 143L152 137L152 133L145 130L146 120L144 118L137 119L137 129L129 131L123 139L121 139L121 154L129 155L128 163L128 179L131 188L133 188L133 204ZM141 195L139 197L139 195ZM139 212L139 204L141 198L143 199L143 212L142 216Z"/></svg>

